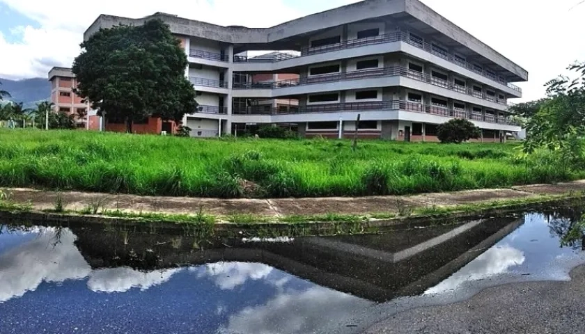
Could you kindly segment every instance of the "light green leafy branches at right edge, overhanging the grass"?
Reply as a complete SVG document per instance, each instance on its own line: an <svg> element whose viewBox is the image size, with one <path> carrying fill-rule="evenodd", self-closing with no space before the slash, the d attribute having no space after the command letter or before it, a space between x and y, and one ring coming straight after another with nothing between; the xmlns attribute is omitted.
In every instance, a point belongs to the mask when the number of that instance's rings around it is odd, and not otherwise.
<svg viewBox="0 0 585 334"><path fill-rule="evenodd" d="M546 149L563 161L563 170L582 170L585 164L585 63L570 65L577 78L547 82L547 98L532 102L526 122L524 152Z"/></svg>

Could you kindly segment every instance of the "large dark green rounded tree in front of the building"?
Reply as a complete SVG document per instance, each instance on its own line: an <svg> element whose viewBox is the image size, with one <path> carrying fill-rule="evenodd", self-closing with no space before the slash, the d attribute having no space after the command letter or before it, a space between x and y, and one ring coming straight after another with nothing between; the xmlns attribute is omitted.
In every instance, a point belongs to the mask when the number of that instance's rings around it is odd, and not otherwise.
<svg viewBox="0 0 585 334"><path fill-rule="evenodd" d="M72 69L77 93L107 118L123 120L128 132L136 120L180 122L197 107L185 51L161 20L100 29L81 48Z"/></svg>

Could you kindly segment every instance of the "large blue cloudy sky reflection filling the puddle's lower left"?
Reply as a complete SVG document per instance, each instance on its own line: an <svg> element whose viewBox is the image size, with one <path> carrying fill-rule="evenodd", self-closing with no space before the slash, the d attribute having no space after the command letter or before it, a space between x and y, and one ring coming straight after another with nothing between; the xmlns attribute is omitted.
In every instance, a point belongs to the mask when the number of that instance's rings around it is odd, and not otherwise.
<svg viewBox="0 0 585 334"><path fill-rule="evenodd" d="M0 333L319 333L371 304L258 263L92 270L54 235L0 234Z"/></svg>

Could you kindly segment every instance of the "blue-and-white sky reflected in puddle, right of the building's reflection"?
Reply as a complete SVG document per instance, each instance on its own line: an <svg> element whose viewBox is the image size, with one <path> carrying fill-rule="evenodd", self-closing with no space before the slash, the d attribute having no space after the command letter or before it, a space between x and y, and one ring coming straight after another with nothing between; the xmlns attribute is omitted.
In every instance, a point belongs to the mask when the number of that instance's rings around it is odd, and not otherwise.
<svg viewBox="0 0 585 334"><path fill-rule="evenodd" d="M569 269L584 260L582 253L559 246L559 238L550 233L543 216L529 214L520 228L426 294L448 292L470 281L504 275L524 276L525 280L568 280Z"/></svg>

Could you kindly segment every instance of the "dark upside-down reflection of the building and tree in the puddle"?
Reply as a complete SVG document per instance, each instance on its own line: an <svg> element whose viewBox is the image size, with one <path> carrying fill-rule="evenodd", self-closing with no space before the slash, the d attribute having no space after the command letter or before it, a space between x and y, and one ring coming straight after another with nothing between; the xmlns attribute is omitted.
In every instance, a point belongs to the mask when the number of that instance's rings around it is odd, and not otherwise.
<svg viewBox="0 0 585 334"><path fill-rule="evenodd" d="M124 231L74 229L93 269L140 270L212 262L261 262L371 301L421 294L451 276L524 222L492 218L387 234L304 237L260 243Z"/></svg>

